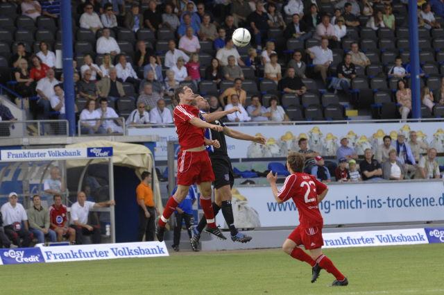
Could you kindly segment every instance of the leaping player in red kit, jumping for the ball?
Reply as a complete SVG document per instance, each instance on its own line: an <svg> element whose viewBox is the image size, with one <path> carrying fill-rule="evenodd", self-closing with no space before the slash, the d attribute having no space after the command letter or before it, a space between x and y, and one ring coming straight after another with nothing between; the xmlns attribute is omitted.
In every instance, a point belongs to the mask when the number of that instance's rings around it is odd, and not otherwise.
<svg viewBox="0 0 444 295"><path fill-rule="evenodd" d="M167 224L169 217L187 196L189 186L197 183L200 189L200 206L205 214L205 219L207 219L205 231L220 239L226 239L214 221L211 201L211 183L214 181L214 174L210 157L205 149L205 145L212 145L216 148L219 148L220 145L217 140L208 140L204 137L205 128L222 131L223 127L208 124L200 119L198 108L193 106L196 105L193 90L188 86L180 85L176 88L174 98L179 101L179 105L173 111L174 125L176 125L180 145L178 189L165 205L164 212L157 223L155 235L160 242L164 240L165 224Z"/></svg>

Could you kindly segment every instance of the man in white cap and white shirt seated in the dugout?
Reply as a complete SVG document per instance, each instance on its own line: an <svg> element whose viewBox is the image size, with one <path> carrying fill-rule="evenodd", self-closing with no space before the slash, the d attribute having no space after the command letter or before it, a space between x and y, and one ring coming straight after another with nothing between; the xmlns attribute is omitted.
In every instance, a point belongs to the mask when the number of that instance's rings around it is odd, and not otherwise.
<svg viewBox="0 0 444 295"><path fill-rule="evenodd" d="M9 202L1 206L3 228L8 238L19 247L28 247L33 240L33 234L29 232L28 215L22 204L17 203L18 195L15 192L9 194ZM23 239L20 244L20 239Z"/></svg>

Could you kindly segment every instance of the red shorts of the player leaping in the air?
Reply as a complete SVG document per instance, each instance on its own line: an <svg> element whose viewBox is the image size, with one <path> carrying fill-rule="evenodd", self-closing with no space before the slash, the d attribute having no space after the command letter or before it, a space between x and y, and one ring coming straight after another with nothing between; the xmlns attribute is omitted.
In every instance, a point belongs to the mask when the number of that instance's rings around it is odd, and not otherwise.
<svg viewBox="0 0 444 295"><path fill-rule="evenodd" d="M178 153L178 185L200 185L212 181L214 173L207 150Z"/></svg>

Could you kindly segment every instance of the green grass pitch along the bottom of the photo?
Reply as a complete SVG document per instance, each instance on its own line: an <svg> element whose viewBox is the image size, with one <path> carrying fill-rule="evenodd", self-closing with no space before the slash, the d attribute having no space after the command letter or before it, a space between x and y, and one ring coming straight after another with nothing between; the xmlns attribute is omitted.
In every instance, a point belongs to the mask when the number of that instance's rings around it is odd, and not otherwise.
<svg viewBox="0 0 444 295"><path fill-rule="evenodd" d="M0 294L444 294L443 253L443 244L326 249L348 287L329 287L324 270L311 284L310 267L280 249L7 265Z"/></svg>

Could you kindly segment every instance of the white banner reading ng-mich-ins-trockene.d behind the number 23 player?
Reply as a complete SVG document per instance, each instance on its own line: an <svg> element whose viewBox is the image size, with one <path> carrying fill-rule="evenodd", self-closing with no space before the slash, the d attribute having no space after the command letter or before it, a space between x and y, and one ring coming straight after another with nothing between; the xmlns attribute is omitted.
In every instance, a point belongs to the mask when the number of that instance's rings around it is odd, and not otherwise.
<svg viewBox="0 0 444 295"><path fill-rule="evenodd" d="M276 203L269 187L237 187L232 205L239 228L299 223L293 201ZM444 220L444 186L442 180L331 184L319 209L326 225L440 221ZM216 221L226 228L221 213Z"/></svg>

